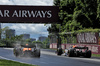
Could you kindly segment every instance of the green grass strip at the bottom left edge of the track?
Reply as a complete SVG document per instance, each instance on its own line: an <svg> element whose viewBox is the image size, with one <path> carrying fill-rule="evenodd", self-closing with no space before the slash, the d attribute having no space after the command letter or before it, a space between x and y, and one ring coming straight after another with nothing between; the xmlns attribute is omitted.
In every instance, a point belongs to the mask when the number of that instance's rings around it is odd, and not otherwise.
<svg viewBox="0 0 100 66"><path fill-rule="evenodd" d="M0 59L0 66L36 66L36 65Z"/></svg>

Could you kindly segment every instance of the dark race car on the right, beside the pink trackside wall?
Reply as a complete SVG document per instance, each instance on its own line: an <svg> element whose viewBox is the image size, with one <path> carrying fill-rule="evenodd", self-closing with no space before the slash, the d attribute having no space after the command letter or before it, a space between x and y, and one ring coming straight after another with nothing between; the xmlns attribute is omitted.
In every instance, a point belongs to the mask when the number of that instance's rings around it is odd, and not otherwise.
<svg viewBox="0 0 100 66"><path fill-rule="evenodd" d="M69 57L91 57L91 50L88 50L88 47L71 47L70 49L65 49L65 56Z"/></svg>

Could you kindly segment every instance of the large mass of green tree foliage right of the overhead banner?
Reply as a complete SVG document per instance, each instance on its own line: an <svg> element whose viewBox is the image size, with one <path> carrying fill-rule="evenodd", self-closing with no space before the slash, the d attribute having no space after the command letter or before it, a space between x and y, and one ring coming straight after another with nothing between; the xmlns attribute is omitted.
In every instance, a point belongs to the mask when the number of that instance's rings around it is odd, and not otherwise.
<svg viewBox="0 0 100 66"><path fill-rule="evenodd" d="M52 24L48 31L61 32L62 43L66 43L64 34L100 32L100 0L54 0L54 6L59 6L61 28Z"/></svg>

